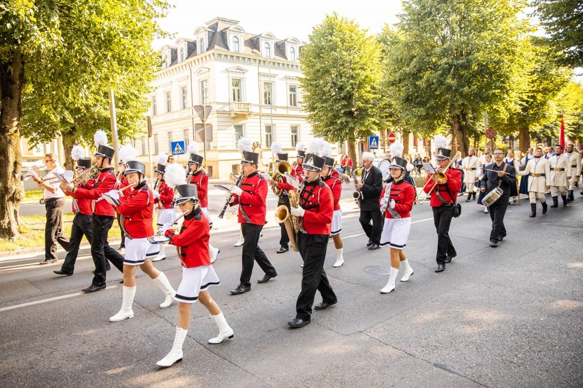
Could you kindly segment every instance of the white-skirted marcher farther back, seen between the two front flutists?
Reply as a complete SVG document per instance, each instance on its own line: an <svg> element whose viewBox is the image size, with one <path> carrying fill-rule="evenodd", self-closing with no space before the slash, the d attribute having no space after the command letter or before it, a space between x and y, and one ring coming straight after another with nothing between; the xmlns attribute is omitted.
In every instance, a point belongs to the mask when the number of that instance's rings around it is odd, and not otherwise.
<svg viewBox="0 0 583 388"><path fill-rule="evenodd" d="M158 209L158 214L156 215L156 225L158 230L160 230L164 224L171 224L176 218L174 208L172 207L172 202L174 200L174 187L168 186L166 184L166 179L164 175L166 174L166 155L163 153L158 154L156 157L156 183L154 184L154 189L152 194L154 195L154 206ZM180 168L180 175L184 176L184 171ZM166 259L166 252L164 252L164 245L160 245L160 253L152 259L153 262L159 262L160 260Z"/></svg>

